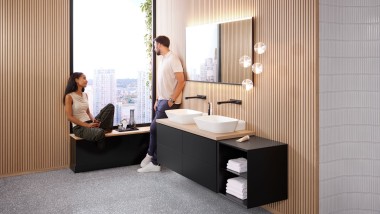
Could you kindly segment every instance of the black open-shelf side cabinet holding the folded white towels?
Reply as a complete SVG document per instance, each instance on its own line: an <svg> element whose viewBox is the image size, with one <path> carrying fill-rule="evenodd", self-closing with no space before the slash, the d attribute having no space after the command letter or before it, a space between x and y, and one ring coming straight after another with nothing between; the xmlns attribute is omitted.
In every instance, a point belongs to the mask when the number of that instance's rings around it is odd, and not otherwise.
<svg viewBox="0 0 380 214"><path fill-rule="evenodd" d="M247 172L227 169L230 159L247 159ZM288 146L284 143L251 136L248 142L236 139L218 144L218 190L231 201L246 208L285 200L288 198ZM247 179L247 199L226 194L227 180L241 176Z"/></svg>

